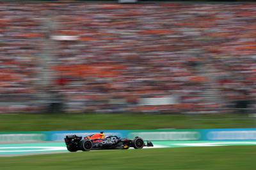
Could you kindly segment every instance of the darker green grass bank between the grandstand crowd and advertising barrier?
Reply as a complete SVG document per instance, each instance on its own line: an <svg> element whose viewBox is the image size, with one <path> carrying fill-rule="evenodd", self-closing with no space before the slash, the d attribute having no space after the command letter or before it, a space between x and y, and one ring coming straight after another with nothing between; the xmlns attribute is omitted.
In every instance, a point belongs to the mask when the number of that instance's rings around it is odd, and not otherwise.
<svg viewBox="0 0 256 170"><path fill-rule="evenodd" d="M0 131L253 128L246 115L60 114L0 115Z"/></svg>

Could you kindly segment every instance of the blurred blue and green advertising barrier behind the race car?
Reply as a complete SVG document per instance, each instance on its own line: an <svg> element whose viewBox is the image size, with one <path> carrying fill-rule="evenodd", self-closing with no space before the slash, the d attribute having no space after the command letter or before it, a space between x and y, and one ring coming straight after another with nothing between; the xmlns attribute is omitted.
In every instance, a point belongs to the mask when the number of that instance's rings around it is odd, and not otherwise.
<svg viewBox="0 0 256 170"><path fill-rule="evenodd" d="M0 132L0 143L37 143L63 141L68 134L88 136L99 133L95 131L31 131ZM151 141L241 141L256 140L256 129L157 129L157 130L108 130L106 136L120 138L140 136Z"/></svg>

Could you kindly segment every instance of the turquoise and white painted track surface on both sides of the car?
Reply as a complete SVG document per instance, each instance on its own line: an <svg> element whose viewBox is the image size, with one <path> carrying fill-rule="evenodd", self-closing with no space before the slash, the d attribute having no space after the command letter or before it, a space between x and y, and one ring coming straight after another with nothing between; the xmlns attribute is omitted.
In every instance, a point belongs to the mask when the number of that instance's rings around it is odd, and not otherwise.
<svg viewBox="0 0 256 170"><path fill-rule="evenodd" d="M256 145L256 141L152 141L152 143L154 144L154 147L150 148ZM22 143L0 145L1 157L65 152L68 153L65 143Z"/></svg>

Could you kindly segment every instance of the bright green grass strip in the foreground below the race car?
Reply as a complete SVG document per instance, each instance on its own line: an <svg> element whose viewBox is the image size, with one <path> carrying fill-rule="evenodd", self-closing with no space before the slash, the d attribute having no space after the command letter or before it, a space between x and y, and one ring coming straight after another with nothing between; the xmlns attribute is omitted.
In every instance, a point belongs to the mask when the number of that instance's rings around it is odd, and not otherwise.
<svg viewBox="0 0 256 170"><path fill-rule="evenodd" d="M254 170L256 146L159 148L0 157L1 170Z"/></svg>

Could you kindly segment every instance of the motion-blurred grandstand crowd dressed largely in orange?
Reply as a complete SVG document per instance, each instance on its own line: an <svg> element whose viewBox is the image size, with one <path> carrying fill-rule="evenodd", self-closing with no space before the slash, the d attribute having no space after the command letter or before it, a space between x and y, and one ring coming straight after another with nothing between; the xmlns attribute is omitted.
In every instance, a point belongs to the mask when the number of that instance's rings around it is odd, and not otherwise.
<svg viewBox="0 0 256 170"><path fill-rule="evenodd" d="M1 3L0 103L8 97L15 102L0 106L0 113L45 109L32 97L42 92L57 97L67 112L255 108L255 9L255 4ZM49 41L56 46L45 52ZM40 79L44 53L56 61L45 73L52 76L46 86Z"/></svg>

